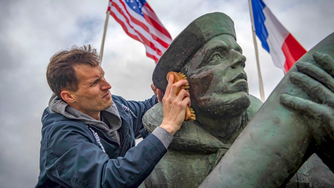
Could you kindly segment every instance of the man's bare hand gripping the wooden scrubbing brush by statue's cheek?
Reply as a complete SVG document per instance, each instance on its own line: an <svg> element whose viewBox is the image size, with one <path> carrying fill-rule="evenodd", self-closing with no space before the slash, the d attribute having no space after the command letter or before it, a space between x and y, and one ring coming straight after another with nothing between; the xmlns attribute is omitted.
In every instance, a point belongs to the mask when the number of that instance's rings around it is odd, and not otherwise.
<svg viewBox="0 0 334 188"><path fill-rule="evenodd" d="M172 135L178 131L184 121L187 106L190 106L190 95L182 89L176 95L177 89L187 83L186 80L180 80L174 83L174 76L171 75L168 80L165 95L162 99L162 109L164 118L160 127L166 129Z"/></svg>

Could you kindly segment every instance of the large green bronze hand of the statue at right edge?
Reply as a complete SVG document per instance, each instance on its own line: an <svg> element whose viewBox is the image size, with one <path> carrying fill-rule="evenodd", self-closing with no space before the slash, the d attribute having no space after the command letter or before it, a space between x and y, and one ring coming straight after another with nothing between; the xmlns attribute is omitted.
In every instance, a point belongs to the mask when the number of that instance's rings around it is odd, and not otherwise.
<svg viewBox="0 0 334 188"><path fill-rule="evenodd" d="M320 122L312 119L305 121L308 122L318 147L324 152L323 155L330 159L334 143L334 60L319 52L314 53L313 58L316 65L298 62L298 72L290 74L291 82L303 89L311 100L288 94L281 95L280 99L284 106ZM333 162L327 161L326 164L331 170L334 169Z"/></svg>

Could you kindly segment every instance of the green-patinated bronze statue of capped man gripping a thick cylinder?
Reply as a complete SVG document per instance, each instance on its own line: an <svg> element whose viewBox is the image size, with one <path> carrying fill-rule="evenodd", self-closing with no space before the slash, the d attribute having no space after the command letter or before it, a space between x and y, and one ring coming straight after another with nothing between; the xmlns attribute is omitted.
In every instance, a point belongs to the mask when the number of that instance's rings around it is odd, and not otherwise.
<svg viewBox="0 0 334 188"><path fill-rule="evenodd" d="M333 44L332 34L303 56L261 107L248 94L246 58L236 43L233 21L218 12L195 19L159 60L153 83L164 90L169 71L183 72L196 121L183 123L141 187L198 187L202 182L201 187L334 186L334 174L312 155L316 152L333 170ZM318 72L309 65L314 59ZM321 70L331 75L322 76ZM305 79L299 73L318 77ZM324 93L314 79L323 80L329 90ZM323 94L324 99L317 99ZM158 103L143 123L153 131L162 118Z"/></svg>

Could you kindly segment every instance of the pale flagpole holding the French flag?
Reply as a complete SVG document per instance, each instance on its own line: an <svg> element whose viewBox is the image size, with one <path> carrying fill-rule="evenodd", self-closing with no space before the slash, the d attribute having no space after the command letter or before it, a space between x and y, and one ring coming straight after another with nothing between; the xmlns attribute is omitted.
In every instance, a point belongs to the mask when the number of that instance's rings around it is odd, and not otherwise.
<svg viewBox="0 0 334 188"><path fill-rule="evenodd" d="M263 88L263 81L262 81L261 70L260 70L258 44L256 42L256 36L255 36L255 24L254 24L252 0L248 0L248 4L249 4L249 13L251 14L251 21L252 21L252 34L253 34L253 41L254 41L254 48L255 48L256 65L258 68L258 75L259 75L260 96L261 96L262 102L265 102L265 91Z"/></svg>

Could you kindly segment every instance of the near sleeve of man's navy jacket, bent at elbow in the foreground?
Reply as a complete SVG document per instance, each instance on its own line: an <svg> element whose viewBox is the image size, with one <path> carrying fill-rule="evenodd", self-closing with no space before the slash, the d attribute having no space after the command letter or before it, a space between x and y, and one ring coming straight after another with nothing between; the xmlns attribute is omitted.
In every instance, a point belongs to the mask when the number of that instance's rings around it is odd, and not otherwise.
<svg viewBox="0 0 334 188"><path fill-rule="evenodd" d="M110 159L82 124L62 122L47 137L47 176L64 187L137 187L167 152L148 135L124 157Z"/></svg>

